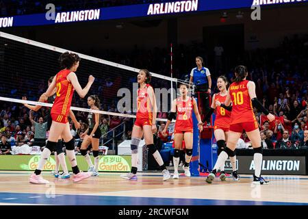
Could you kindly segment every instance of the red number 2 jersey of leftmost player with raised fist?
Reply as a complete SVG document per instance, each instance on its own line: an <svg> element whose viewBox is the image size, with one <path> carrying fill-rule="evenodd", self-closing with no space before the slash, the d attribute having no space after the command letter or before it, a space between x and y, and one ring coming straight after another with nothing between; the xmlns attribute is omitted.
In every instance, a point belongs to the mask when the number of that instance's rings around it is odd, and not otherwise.
<svg viewBox="0 0 308 219"><path fill-rule="evenodd" d="M70 112L70 104L73 98L73 84L70 83L66 77L70 73L70 70L60 70L55 75L55 83L57 85L57 92L55 96L55 102L51 108L51 114L68 116Z"/></svg>

